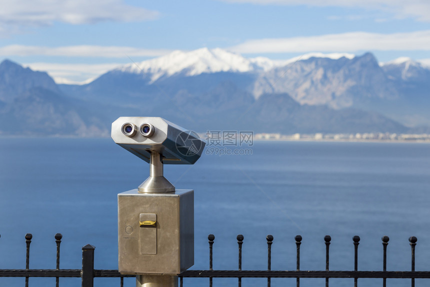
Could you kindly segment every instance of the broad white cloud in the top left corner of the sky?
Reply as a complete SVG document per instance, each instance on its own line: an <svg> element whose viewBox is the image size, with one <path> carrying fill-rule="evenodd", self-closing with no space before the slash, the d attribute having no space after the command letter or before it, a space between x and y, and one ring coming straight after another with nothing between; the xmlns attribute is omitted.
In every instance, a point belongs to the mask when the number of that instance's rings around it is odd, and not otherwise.
<svg viewBox="0 0 430 287"><path fill-rule="evenodd" d="M53 22L86 24L100 21L142 21L158 16L122 0L0 0L0 24L12 27L46 26Z"/></svg>

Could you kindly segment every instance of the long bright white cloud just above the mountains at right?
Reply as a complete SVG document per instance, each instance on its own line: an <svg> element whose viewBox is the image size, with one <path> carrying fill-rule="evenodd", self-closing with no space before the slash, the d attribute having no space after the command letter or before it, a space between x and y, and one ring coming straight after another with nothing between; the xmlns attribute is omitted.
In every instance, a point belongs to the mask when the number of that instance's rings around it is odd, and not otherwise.
<svg viewBox="0 0 430 287"><path fill-rule="evenodd" d="M430 30L392 34L348 32L306 37L253 39L232 46L229 50L244 54L430 50Z"/></svg>

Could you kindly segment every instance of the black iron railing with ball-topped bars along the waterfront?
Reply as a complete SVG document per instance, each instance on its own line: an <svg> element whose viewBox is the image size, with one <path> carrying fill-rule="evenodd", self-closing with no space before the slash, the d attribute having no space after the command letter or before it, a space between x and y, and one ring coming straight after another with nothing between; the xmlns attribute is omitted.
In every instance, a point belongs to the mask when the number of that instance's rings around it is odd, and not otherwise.
<svg viewBox="0 0 430 287"><path fill-rule="evenodd" d="M32 235L25 234L26 258L25 269L0 269L0 277L25 277L25 286L28 287L29 277L54 277L56 286L59 285L60 277L80 277L82 287L92 287L94 277L117 277L119 285L123 286L124 277L134 277L134 275L123 275L118 270L94 269L94 246L87 244L82 247L82 267L81 269L60 269L59 254L62 235L55 234L56 242L56 268L55 269L30 269L29 254ZM361 271L358 270L358 244L359 236L353 236L354 245L354 270L338 271L329 269L329 245L331 237L326 235L325 242L325 270L300 270L300 244L302 237L294 237L296 244L296 269L295 270L271 270L271 245L272 235L267 235L267 270L242 270L242 244L243 235L237 235L238 244L238 269L237 270L214 270L212 264L212 249L215 236L209 234L209 269L207 270L186 270L179 274L180 286L183 286L184 277L205 277L209 279L209 286L212 286L213 278L226 277L237 278L237 284L241 286L242 278L267 278L267 286L270 287L271 278L296 278L296 286L300 285L300 278L325 278L325 286L328 287L329 278L353 278L354 286L357 286L359 278L382 278L383 287L386 286L386 278L410 278L410 285L414 287L415 278L430 278L430 271L415 271L415 245L416 237L409 237L411 249L411 268L410 271L387 271L386 270L386 247L388 245L388 236L382 237L383 246L383 270L382 271Z"/></svg>

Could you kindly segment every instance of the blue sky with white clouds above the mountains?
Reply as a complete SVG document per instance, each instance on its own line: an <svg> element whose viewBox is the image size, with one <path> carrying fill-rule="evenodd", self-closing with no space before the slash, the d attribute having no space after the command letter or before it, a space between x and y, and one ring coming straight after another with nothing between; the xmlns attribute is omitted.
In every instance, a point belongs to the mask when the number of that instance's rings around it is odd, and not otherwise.
<svg viewBox="0 0 430 287"><path fill-rule="evenodd" d="M0 59L83 81L172 50L246 57L370 51L430 63L425 0L0 0Z"/></svg>

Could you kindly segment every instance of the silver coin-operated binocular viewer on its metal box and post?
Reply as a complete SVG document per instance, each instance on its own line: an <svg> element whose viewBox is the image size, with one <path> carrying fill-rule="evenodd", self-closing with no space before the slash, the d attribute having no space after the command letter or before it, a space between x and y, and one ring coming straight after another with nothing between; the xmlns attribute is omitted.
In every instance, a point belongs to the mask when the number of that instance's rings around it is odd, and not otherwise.
<svg viewBox="0 0 430 287"><path fill-rule="evenodd" d="M194 264L194 190L175 189L163 164L193 164L204 141L160 117L119 117L111 137L149 163L149 177L118 194L118 270L136 286L177 286Z"/></svg>

